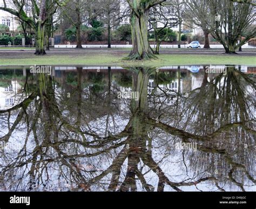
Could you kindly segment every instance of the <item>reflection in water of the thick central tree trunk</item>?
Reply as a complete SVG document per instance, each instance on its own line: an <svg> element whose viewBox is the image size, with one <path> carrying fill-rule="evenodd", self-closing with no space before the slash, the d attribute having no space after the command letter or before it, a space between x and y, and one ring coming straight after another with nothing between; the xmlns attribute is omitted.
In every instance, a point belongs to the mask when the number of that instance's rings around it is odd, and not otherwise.
<svg viewBox="0 0 256 209"><path fill-rule="evenodd" d="M135 176L138 173L138 163L140 161L140 153L146 150L147 133L149 132L149 125L147 125L146 112L147 106L147 84L149 83L149 75L143 69L139 72L133 73L133 92L138 92L138 101L132 99L131 113L132 113L132 127L131 138L129 143L129 157L128 167L125 180L120 188L121 191L136 191ZM139 175L139 174L138 174Z"/></svg>

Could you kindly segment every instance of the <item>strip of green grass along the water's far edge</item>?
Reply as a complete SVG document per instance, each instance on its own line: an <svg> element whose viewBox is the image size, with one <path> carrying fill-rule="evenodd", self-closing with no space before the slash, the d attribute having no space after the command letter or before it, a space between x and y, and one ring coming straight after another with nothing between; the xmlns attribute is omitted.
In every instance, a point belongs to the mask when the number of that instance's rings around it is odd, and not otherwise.
<svg viewBox="0 0 256 209"><path fill-rule="evenodd" d="M81 55L46 55L26 56L21 58L1 58L0 65L203 65L203 64L234 64L256 65L253 56L239 55L159 55L156 60L125 61L123 57L128 53L87 53Z"/></svg>

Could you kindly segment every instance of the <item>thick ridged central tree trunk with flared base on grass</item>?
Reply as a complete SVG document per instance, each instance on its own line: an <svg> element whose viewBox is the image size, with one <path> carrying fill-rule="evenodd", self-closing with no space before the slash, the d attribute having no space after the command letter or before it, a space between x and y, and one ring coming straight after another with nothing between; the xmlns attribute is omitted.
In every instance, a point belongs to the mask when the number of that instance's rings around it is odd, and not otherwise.
<svg viewBox="0 0 256 209"><path fill-rule="evenodd" d="M149 10L143 10L135 14L131 12L131 27L132 27L132 51L130 55L125 58L128 60L142 60L157 58L150 50L149 41L147 39L147 28L149 23Z"/></svg>

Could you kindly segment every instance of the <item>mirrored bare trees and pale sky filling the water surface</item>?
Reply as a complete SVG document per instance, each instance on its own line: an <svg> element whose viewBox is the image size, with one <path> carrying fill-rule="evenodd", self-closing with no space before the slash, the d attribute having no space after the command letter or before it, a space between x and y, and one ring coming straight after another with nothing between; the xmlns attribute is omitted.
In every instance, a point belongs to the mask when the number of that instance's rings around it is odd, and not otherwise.
<svg viewBox="0 0 256 209"><path fill-rule="evenodd" d="M87 82L101 86L95 91L93 84L83 87L77 68L70 92L36 75L37 87L26 85L22 102L0 111L0 140L22 144L3 153L1 189L181 191L235 185L245 190L255 184L250 111L255 98L244 94L255 85L247 75L234 68L210 81L204 75L188 97L160 87L173 75L149 68L131 68L129 75L112 76L109 68L104 84L102 75L89 73ZM156 87L149 92L152 76ZM117 99L114 77L125 84L132 78L139 100ZM175 77L180 82L179 70ZM197 142L198 151L176 150L179 141Z"/></svg>

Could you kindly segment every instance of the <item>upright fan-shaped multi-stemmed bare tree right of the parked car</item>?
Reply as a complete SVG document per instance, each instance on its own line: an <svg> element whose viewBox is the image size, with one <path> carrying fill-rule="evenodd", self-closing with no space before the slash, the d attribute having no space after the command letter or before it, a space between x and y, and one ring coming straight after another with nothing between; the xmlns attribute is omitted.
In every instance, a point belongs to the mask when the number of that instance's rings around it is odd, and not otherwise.
<svg viewBox="0 0 256 209"><path fill-rule="evenodd" d="M230 0L206 2L210 7L207 27L210 28L211 35L224 46L226 53L235 53L256 35L253 5ZM244 39L238 43L241 37Z"/></svg>

